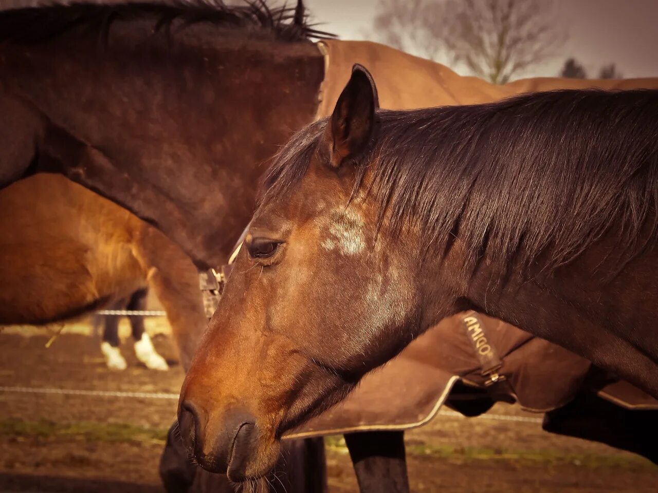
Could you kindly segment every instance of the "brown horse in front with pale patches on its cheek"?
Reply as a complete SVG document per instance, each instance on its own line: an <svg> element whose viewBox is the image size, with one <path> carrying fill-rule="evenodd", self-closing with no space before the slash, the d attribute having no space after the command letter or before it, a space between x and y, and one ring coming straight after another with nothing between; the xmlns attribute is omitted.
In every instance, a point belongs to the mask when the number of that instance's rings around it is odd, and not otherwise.
<svg viewBox="0 0 658 493"><path fill-rule="evenodd" d="M278 154L182 388L199 462L265 473L282 433L465 309L658 396L658 91L377 107L355 66Z"/></svg>

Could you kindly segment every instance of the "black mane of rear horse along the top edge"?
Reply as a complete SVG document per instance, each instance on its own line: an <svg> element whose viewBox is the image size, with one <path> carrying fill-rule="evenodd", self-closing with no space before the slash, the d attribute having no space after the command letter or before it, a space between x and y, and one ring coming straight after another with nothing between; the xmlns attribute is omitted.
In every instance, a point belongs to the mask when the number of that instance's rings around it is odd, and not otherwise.
<svg viewBox="0 0 658 493"><path fill-rule="evenodd" d="M74 28L89 28L107 39L111 25L120 20L153 20L153 31L170 31L206 22L241 30L258 30L280 41L303 41L332 37L308 23L308 12L297 7L268 7L265 0L245 0L226 5L222 0L141 1L38 1L14 0L0 11L0 41L34 43L46 41Z"/></svg>

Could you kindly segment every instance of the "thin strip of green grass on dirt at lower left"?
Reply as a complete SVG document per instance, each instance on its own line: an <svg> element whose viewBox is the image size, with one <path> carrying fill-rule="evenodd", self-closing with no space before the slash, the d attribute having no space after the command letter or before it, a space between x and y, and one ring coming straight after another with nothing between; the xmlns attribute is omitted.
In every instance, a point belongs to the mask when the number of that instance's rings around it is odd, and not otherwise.
<svg viewBox="0 0 658 493"><path fill-rule="evenodd" d="M167 429L147 428L128 423L54 423L47 419L23 421L0 420L0 436L24 438L71 438L88 442L161 442L166 440Z"/></svg>

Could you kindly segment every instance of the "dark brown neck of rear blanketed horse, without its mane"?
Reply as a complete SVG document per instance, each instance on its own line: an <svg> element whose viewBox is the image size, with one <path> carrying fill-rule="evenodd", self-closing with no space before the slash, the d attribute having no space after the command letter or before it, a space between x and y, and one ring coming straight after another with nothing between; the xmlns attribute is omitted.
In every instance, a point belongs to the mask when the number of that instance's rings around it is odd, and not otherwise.
<svg viewBox="0 0 658 493"><path fill-rule="evenodd" d="M266 160L313 119L323 60L311 43L203 44L194 29L136 45L117 23L105 49L72 34L8 45L0 72L43 122L31 171L128 208L207 268L248 222Z"/></svg>

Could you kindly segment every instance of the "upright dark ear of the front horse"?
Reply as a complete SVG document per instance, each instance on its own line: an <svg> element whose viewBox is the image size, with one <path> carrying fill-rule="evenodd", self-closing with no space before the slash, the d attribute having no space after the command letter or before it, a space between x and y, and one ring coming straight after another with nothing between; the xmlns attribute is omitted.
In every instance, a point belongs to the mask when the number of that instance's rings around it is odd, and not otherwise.
<svg viewBox="0 0 658 493"><path fill-rule="evenodd" d="M322 151L332 168L361 153L372 137L375 110L379 108L377 87L370 72L358 63L340 94L322 136Z"/></svg>

